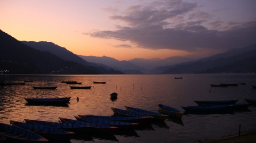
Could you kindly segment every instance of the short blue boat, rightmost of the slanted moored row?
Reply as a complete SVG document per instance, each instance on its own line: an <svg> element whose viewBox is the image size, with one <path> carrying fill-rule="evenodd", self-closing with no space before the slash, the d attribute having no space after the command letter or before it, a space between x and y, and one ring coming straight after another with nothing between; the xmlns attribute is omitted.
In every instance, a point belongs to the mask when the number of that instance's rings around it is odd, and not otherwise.
<svg viewBox="0 0 256 143"><path fill-rule="evenodd" d="M160 103L158 104L158 106L159 106L159 112L165 115L181 118L184 114L184 112L181 112L170 106L166 106Z"/></svg>

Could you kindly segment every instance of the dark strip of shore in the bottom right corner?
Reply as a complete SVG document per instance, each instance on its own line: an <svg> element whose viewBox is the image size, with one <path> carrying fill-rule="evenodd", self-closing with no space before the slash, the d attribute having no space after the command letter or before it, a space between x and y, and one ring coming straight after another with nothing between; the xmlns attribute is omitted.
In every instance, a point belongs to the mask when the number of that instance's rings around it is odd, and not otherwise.
<svg viewBox="0 0 256 143"><path fill-rule="evenodd" d="M194 141L194 143L255 143L256 142L256 129L251 131L244 131L240 133L234 133L233 135L225 135L219 138L210 139L210 140L199 140Z"/></svg>

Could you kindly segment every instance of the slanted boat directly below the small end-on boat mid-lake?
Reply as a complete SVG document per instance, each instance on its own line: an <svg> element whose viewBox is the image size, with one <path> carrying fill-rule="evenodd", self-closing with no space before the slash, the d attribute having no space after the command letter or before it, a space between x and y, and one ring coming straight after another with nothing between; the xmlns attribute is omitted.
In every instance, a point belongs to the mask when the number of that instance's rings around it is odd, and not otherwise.
<svg viewBox="0 0 256 143"><path fill-rule="evenodd" d="M143 117L150 117L151 120L155 119L152 116L148 116L146 114L140 114L138 112L132 112L132 111L117 109L117 108L113 108L113 107L111 107L111 109L113 110L115 115L119 115L119 116L141 116L141 117L143 116Z"/></svg>

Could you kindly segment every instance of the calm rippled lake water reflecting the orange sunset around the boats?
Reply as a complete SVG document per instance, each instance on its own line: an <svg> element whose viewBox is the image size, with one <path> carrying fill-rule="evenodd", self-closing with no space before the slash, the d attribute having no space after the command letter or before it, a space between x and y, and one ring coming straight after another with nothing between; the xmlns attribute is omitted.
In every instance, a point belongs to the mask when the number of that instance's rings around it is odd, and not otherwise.
<svg viewBox="0 0 256 143"><path fill-rule="evenodd" d="M183 77L182 80L174 77ZM214 75L0 75L9 82L34 80L25 85L0 86L0 120L23 122L38 119L58 122L59 117L75 119L75 115L113 115L110 107L124 106L157 112L157 103L182 110L180 106L196 106L194 100L256 99L256 74ZM92 89L70 89L61 81L76 80ZM106 81L106 84L93 84ZM228 88L211 88L210 84L246 83ZM32 86L58 86L56 90L34 90ZM110 94L118 93L115 101ZM68 106L31 106L24 98L72 97ZM79 97L79 102L76 98ZM256 128L256 107L228 114L186 114L180 120L167 119L152 123L134 132L115 133L113 136L76 136L71 142L193 142L216 138Z"/></svg>

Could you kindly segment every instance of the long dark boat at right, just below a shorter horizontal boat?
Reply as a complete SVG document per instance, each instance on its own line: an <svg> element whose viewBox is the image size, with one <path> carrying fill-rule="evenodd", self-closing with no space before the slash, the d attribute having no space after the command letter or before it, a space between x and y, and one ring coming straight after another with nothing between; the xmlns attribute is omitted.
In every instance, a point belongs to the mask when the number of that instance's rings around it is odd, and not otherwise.
<svg viewBox="0 0 256 143"><path fill-rule="evenodd" d="M207 106L181 106L185 111L199 111L199 112L211 112L211 111L228 111L233 110L234 105L207 105Z"/></svg>

